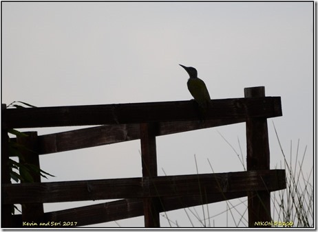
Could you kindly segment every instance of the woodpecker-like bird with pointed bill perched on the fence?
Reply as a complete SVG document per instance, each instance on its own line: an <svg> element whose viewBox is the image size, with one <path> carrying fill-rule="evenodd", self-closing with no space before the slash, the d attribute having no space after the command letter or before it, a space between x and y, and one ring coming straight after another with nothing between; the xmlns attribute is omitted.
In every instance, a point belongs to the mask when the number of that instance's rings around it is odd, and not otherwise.
<svg viewBox="0 0 318 232"><path fill-rule="evenodd" d="M187 71L190 78L187 82L188 89L191 95L194 97L195 102L198 103L200 107L200 113L203 117L206 114L207 108L211 104L211 97L208 89L203 80L198 78L198 71L193 67L185 67L184 65L180 65L182 68Z"/></svg>

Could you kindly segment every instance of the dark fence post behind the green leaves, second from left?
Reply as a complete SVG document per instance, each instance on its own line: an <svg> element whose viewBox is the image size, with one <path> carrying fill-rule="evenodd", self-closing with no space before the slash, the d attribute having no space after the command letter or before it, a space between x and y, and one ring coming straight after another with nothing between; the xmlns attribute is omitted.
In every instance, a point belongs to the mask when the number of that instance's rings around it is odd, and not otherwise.
<svg viewBox="0 0 318 232"><path fill-rule="evenodd" d="M36 152L38 150L37 143L37 132L24 132L28 137L17 137L17 143L21 144L24 148L20 149L21 156L24 160L19 160L21 164L31 164L36 167L40 167L39 154ZM34 183L41 182L40 173L30 173L33 178ZM21 181L23 183L23 181ZM43 203L30 203L22 206L22 222L41 222L43 217ZM36 227L36 226L35 226Z"/></svg>

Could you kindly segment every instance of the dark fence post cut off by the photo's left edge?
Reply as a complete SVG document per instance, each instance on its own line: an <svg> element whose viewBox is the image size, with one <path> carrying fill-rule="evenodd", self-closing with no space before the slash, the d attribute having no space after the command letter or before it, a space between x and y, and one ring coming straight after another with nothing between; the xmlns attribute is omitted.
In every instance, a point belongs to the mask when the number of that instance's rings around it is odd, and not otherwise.
<svg viewBox="0 0 318 232"><path fill-rule="evenodd" d="M9 137L6 129L6 104L1 104L1 184L11 183L10 167L9 167ZM1 194L1 202L5 198ZM12 205L1 204L1 227L12 227Z"/></svg>

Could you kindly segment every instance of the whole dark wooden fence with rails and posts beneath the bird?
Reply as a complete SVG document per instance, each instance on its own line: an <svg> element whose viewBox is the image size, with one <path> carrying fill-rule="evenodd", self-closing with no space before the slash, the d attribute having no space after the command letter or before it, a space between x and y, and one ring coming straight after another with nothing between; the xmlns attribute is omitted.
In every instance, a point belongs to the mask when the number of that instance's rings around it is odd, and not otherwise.
<svg viewBox="0 0 318 232"><path fill-rule="evenodd" d="M78 227L145 216L145 227L160 227L159 213L248 196L248 226L271 221L270 193L286 188L285 170L269 170L267 118L282 116L280 97L264 87L244 89L244 98L212 100L204 121L194 101L8 109L1 121L1 227ZM246 122L247 171L158 176L156 137ZM29 148L25 160L39 166L39 155L140 139L142 177L12 184L8 129L104 125L38 136L17 137ZM30 152L32 150L32 152ZM22 162L22 161L21 161ZM204 193L204 197L202 197ZM61 211L43 211L45 202L120 199ZM12 215L13 204L22 214ZM41 224L40 224L41 223Z"/></svg>

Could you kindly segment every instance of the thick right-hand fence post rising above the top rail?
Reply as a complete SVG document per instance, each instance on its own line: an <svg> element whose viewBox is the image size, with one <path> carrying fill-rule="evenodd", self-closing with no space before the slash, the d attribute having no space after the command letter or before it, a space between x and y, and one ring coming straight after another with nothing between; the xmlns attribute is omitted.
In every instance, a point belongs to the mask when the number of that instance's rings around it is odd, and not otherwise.
<svg viewBox="0 0 318 232"><path fill-rule="evenodd" d="M265 87L244 89L245 97L265 97ZM246 119L247 170L269 170L268 128L266 118ZM248 227L271 227L271 192L248 192Z"/></svg>

